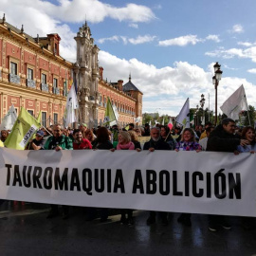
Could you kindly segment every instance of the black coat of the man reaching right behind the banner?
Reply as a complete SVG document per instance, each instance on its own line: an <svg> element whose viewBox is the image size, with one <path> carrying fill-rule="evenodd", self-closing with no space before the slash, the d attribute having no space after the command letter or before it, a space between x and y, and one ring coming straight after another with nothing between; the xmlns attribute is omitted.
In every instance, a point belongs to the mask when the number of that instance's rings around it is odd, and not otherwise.
<svg viewBox="0 0 256 256"><path fill-rule="evenodd" d="M240 139L227 133L219 124L211 133L207 142L207 151L234 152Z"/></svg>

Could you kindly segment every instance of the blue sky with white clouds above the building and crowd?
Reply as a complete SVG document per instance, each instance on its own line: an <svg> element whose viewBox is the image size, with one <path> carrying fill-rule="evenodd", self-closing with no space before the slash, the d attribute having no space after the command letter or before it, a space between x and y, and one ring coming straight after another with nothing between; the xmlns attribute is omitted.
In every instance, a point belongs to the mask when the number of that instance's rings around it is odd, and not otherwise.
<svg viewBox="0 0 256 256"><path fill-rule="evenodd" d="M73 39L86 19L100 47L104 79L132 82L143 112L176 116L187 98L214 109L213 64L223 79L218 106L244 84L256 106L255 0L1 0L0 17L36 37L59 33L61 55L76 61ZM218 109L220 112L220 109Z"/></svg>

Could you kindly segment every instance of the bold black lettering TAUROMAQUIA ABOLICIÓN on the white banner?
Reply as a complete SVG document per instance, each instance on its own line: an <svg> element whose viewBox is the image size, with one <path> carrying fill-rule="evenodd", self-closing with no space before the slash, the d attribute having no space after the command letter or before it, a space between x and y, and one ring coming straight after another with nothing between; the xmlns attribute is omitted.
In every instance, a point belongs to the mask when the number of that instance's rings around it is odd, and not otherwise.
<svg viewBox="0 0 256 256"><path fill-rule="evenodd" d="M125 193L125 182L121 169L88 169L81 172L78 168L60 168L40 166L19 166L6 164L7 186L19 186L34 189L78 191L92 195L93 192ZM216 197L218 199L241 199L241 174L183 172L162 170L141 170L134 172L132 193ZM114 181L114 182L113 182Z"/></svg>

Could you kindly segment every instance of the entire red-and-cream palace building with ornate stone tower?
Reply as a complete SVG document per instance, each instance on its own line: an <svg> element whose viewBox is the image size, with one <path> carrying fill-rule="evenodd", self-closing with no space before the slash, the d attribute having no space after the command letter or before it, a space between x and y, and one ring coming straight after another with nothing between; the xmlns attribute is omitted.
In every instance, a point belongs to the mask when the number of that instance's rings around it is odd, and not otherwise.
<svg viewBox="0 0 256 256"><path fill-rule="evenodd" d="M107 98L119 111L119 124L125 126L141 117L142 93L131 82L107 82L99 67L100 48L94 45L90 27L80 27L77 61L67 62L60 56L58 34L32 38L24 27L17 29L0 19L0 119L13 104L17 114L21 106L37 117L42 111L42 124L63 123L69 81L77 87L79 122L89 127L101 125Z"/></svg>

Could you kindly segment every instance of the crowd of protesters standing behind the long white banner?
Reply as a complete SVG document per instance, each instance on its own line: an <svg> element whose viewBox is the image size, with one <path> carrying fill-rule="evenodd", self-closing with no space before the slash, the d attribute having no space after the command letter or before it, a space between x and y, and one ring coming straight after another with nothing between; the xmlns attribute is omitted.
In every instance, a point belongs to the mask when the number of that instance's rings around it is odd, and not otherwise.
<svg viewBox="0 0 256 256"><path fill-rule="evenodd" d="M9 136L9 131L1 131L0 146ZM139 137L148 137L144 144L140 143ZM223 119L222 123L214 127L210 122L205 126L200 125L184 130L174 125L173 129L167 125L157 124L151 128L148 123L142 128L135 127L130 123L126 128L120 129L114 125L110 129L98 127L89 129L85 123L78 129L70 127L64 129L60 124L54 124L47 129L38 130L35 137L27 144L26 150L141 150L154 152L155 150L167 151L212 151L230 152L235 155L256 152L255 129L251 126L238 128L232 119ZM1 204L0 200L0 204ZM107 209L98 209L101 212L101 221L108 219ZM93 220L97 216L96 208L87 209L87 219ZM168 225L168 212L150 211L146 221L147 225L155 223L155 215L159 214L162 225ZM47 218L59 215L59 207L51 205ZM133 225L133 210L120 210L120 224ZM69 207L63 206L63 217L69 217ZM184 226L191 227L192 214L181 213L177 221ZM209 229L217 231L221 227L230 229L229 217L221 215L209 215ZM245 226L249 226L249 218L244 218Z"/></svg>

